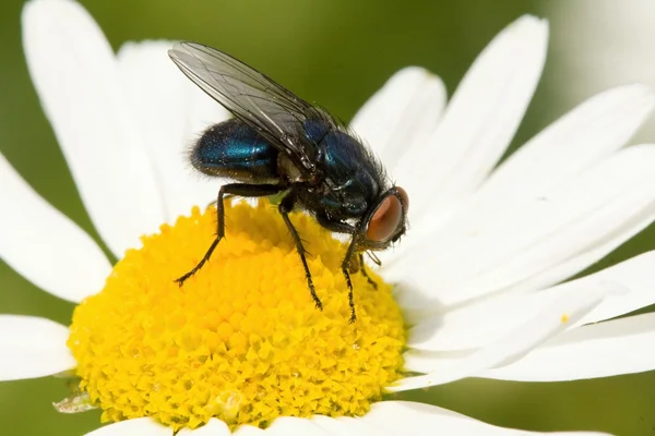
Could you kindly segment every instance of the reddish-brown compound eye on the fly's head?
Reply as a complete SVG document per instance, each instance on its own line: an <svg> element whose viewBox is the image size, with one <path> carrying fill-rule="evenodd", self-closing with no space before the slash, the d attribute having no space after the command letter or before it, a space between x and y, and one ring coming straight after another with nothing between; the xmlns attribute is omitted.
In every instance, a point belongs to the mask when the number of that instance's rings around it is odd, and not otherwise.
<svg viewBox="0 0 655 436"><path fill-rule="evenodd" d="M389 194L373 213L366 230L366 238L376 242L386 242L393 238L404 221L403 215L407 214L408 207L407 193L396 186L395 194Z"/></svg>

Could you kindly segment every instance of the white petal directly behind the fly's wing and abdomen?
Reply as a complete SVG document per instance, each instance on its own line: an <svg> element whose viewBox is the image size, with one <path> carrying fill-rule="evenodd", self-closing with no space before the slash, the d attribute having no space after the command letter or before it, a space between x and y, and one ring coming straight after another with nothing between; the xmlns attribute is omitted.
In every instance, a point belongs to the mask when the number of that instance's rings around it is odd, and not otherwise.
<svg viewBox="0 0 655 436"><path fill-rule="evenodd" d="M155 161L167 220L216 198L218 183L189 164L189 147L228 112L184 76L168 58L172 43L130 43L118 52L123 86L142 140Z"/></svg>

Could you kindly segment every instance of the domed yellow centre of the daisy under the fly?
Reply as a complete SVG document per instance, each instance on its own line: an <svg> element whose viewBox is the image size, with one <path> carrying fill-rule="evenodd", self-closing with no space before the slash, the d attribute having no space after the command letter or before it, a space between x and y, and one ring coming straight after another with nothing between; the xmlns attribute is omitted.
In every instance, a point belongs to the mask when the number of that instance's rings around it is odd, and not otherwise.
<svg viewBox="0 0 655 436"><path fill-rule="evenodd" d="M266 201L226 208L227 237L204 255L216 210L144 237L103 291L74 312L68 341L80 389L103 421L153 416L174 429L210 417L265 427L276 416L361 415L400 377L403 318L391 287L353 274L357 320L340 264L345 245L293 216L324 310L311 300L299 256Z"/></svg>

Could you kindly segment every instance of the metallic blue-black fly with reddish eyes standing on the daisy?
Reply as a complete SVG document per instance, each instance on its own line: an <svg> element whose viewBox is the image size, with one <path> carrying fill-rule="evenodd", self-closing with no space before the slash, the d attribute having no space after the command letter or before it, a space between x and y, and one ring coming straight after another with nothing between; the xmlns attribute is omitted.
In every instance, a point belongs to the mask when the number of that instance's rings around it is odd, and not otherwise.
<svg viewBox="0 0 655 436"><path fill-rule="evenodd" d="M212 245L189 272L198 272L225 234L227 195L283 194L279 215L289 229L307 284L318 308L302 240L288 214L301 208L325 229L352 235L342 263L348 286L350 323L356 319L350 274L364 269L362 253L385 250L406 230L407 193L393 185L382 164L345 125L243 62L211 47L180 43L168 51L177 66L235 118L207 129L191 150L199 171L233 183L218 191L217 231ZM357 257L356 257L357 256ZM379 263L379 261L377 261Z"/></svg>

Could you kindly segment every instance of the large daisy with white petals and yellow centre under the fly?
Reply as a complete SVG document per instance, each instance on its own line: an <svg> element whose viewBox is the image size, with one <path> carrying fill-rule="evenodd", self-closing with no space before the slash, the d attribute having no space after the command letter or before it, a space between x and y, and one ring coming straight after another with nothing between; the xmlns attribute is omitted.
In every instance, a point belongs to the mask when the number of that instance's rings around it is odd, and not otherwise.
<svg viewBox="0 0 655 436"><path fill-rule="evenodd" d="M544 21L502 31L448 105L438 77L408 68L357 113L412 197L412 228L369 268L378 290L354 275L354 324L343 244L293 217L320 312L266 202L229 205L227 239L178 288L213 238L215 210L193 206L217 190L181 150L227 113L177 71L169 43L115 56L73 1L28 2L23 29L44 110L119 262L1 159L2 208L21 210L2 216L2 258L78 306L70 328L0 316L0 378L72 374L78 390L57 407L102 408L110 424L93 435L528 434L391 393L655 368L655 314L617 318L655 303L654 253L564 281L655 217L655 146L623 148L654 95L603 93L498 165L541 73Z"/></svg>

